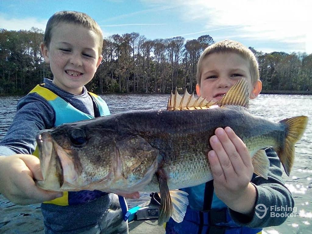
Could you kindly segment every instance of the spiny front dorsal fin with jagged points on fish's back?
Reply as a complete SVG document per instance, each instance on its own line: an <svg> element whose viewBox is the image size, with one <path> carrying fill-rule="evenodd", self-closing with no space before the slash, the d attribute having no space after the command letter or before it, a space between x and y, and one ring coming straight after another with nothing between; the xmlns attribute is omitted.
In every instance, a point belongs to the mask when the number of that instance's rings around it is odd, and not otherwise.
<svg viewBox="0 0 312 234"><path fill-rule="evenodd" d="M211 101L207 101L202 97L195 98L194 93L189 94L186 89L183 96L178 94L176 89L175 93L171 92L168 100L167 110L198 110L208 109L214 105Z"/></svg>

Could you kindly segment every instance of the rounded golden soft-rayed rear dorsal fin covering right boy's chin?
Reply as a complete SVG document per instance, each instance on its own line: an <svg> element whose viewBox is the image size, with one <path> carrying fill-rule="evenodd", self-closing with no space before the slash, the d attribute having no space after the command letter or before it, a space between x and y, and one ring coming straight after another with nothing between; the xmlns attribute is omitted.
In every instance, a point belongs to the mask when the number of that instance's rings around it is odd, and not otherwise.
<svg viewBox="0 0 312 234"><path fill-rule="evenodd" d="M245 79L239 80L233 85L227 94L222 97L218 105L240 105L248 108L249 106L249 90L248 82Z"/></svg>

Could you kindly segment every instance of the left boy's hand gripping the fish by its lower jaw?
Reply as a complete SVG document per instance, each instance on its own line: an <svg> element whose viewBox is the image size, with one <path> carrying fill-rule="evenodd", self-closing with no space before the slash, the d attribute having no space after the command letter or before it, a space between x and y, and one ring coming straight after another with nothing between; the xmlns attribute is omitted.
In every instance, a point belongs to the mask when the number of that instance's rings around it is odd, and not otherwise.
<svg viewBox="0 0 312 234"><path fill-rule="evenodd" d="M0 193L13 203L27 205L62 196L37 187L34 179L43 179L39 158L27 154L0 156Z"/></svg>

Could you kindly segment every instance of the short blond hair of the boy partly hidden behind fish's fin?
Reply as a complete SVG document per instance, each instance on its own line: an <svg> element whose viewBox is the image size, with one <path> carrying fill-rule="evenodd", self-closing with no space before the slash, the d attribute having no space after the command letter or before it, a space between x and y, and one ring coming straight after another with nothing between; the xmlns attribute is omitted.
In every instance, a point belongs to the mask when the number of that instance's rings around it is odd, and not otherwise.
<svg viewBox="0 0 312 234"><path fill-rule="evenodd" d="M210 54L224 52L234 52L242 56L246 61L249 62L249 71L252 83L254 84L257 80L259 80L259 66L256 56L252 53L252 51L237 41L224 40L208 46L199 57L196 73L198 85L200 85L201 82L203 59Z"/></svg>

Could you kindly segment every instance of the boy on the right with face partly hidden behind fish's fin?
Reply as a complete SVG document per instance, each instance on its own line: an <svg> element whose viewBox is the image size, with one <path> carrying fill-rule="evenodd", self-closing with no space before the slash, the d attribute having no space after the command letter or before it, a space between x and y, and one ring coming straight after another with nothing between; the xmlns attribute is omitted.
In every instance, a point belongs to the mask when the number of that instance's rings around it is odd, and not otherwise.
<svg viewBox="0 0 312 234"><path fill-rule="evenodd" d="M218 101L240 79L249 84L250 98L262 88L254 54L236 41L220 41L207 47L197 64L196 91L207 100ZM210 138L208 153L214 180L182 189L189 194L189 206L181 223L172 219L167 234L182 233L261 233L262 227L282 224L285 216L256 215L256 207L294 207L285 187L276 152L266 149L270 161L268 179L253 173L246 145L226 127L217 128ZM289 210L289 209L288 209Z"/></svg>

